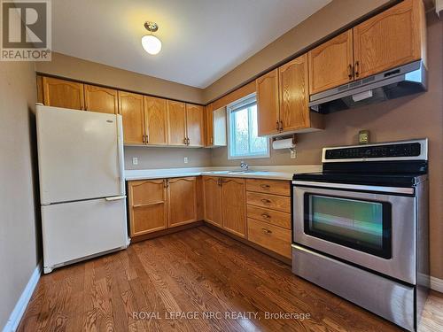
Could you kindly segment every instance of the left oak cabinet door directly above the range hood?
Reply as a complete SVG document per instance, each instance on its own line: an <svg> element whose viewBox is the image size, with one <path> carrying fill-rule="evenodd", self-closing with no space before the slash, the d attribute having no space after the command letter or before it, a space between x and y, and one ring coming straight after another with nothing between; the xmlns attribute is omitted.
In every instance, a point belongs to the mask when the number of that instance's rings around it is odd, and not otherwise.
<svg viewBox="0 0 443 332"><path fill-rule="evenodd" d="M347 30L309 50L309 93L338 87L354 80L353 32Z"/></svg>

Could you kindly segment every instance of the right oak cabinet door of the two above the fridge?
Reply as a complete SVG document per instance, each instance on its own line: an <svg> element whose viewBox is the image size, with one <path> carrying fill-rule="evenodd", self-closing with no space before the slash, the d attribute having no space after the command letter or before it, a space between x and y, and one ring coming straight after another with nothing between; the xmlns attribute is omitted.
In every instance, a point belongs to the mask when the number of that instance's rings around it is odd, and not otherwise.
<svg viewBox="0 0 443 332"><path fill-rule="evenodd" d="M117 90L85 84L84 98L87 111L110 114L119 113Z"/></svg>

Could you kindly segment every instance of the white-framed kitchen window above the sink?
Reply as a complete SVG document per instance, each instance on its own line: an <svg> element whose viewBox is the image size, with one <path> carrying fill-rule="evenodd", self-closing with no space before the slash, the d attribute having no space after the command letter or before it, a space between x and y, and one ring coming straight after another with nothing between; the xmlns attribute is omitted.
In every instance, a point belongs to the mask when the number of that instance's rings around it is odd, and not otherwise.
<svg viewBox="0 0 443 332"><path fill-rule="evenodd" d="M268 138L258 136L255 94L230 104L228 110L228 158L269 158Z"/></svg>

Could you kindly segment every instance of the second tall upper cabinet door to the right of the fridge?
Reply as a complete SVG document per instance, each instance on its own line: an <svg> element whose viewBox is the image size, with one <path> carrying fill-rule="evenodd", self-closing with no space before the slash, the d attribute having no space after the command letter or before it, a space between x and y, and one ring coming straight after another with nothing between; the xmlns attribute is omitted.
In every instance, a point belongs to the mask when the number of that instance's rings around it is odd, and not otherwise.
<svg viewBox="0 0 443 332"><path fill-rule="evenodd" d="M166 99L145 96L144 121L146 143L152 145L167 145Z"/></svg>

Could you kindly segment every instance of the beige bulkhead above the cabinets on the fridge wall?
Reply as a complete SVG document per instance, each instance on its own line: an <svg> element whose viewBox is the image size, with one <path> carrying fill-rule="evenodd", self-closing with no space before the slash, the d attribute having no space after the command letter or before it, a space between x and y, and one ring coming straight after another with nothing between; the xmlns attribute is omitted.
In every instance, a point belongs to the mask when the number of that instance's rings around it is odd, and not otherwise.
<svg viewBox="0 0 443 332"><path fill-rule="evenodd" d="M202 89L98 64L97 62L83 60L82 58L69 57L56 52L52 53L51 62L38 62L36 64L36 71L38 73L47 73L72 80L127 89L157 97L166 97L197 104L202 104L203 102Z"/></svg>

